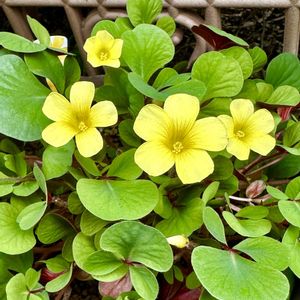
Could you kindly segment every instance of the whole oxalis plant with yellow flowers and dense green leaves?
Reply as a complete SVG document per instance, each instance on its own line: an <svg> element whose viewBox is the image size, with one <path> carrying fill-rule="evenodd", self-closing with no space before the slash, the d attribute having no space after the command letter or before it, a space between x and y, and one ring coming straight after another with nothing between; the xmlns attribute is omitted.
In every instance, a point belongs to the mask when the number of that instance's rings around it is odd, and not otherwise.
<svg viewBox="0 0 300 300"><path fill-rule="evenodd" d="M0 33L0 298L292 299L300 276L300 64L212 26L174 61L161 0L85 41ZM155 24L154 24L155 23ZM221 49L221 50L220 50Z"/></svg>

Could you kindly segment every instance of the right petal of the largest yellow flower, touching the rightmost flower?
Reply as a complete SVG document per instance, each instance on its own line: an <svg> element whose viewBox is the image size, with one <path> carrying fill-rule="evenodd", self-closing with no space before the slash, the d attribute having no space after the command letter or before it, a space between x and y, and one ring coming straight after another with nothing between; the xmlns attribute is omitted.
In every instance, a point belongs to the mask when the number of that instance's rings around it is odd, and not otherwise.
<svg viewBox="0 0 300 300"><path fill-rule="evenodd" d="M185 137L187 148L221 151L228 143L225 126L215 117L197 120Z"/></svg>

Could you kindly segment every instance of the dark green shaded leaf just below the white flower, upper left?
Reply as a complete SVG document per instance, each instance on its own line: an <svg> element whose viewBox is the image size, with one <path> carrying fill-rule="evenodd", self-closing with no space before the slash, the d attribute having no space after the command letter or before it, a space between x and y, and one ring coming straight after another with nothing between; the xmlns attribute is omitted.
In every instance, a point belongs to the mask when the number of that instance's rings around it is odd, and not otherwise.
<svg viewBox="0 0 300 300"><path fill-rule="evenodd" d="M33 74L50 79L60 93L64 92L64 68L56 54L48 51L26 54L24 60Z"/></svg>

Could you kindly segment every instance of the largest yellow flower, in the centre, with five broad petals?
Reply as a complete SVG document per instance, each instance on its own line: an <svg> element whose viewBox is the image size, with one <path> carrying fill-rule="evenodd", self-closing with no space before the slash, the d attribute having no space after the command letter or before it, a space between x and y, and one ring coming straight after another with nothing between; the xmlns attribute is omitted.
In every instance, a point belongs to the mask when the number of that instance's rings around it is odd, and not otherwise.
<svg viewBox="0 0 300 300"><path fill-rule="evenodd" d="M175 164L183 183L200 182L211 174L214 164L206 150L223 150L226 131L218 118L196 121L199 109L199 100L187 94L169 96L164 108L144 106L133 127L146 141L135 152L137 165L149 175L159 176Z"/></svg>

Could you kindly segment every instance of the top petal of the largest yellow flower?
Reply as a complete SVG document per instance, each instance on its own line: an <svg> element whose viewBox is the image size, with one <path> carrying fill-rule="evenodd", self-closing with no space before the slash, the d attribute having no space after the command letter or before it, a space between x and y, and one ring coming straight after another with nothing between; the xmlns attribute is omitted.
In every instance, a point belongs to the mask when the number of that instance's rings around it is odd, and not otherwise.
<svg viewBox="0 0 300 300"><path fill-rule="evenodd" d="M184 138L193 127L200 109L197 97L187 94L169 96L164 104L164 110L174 124L177 139Z"/></svg>

